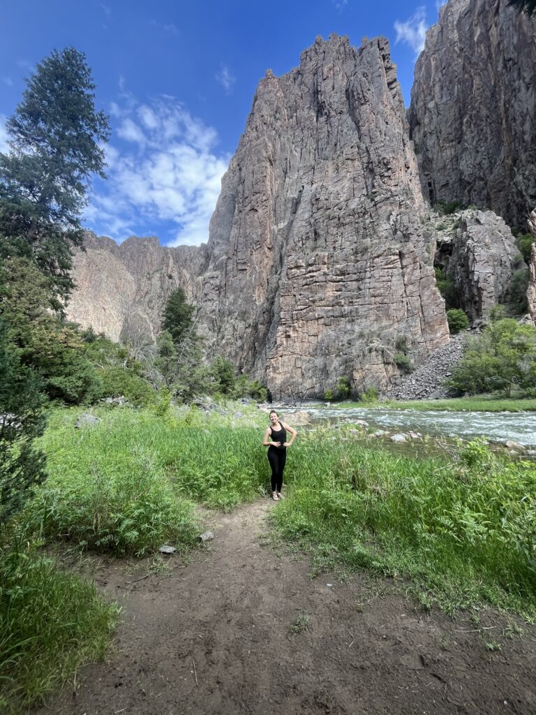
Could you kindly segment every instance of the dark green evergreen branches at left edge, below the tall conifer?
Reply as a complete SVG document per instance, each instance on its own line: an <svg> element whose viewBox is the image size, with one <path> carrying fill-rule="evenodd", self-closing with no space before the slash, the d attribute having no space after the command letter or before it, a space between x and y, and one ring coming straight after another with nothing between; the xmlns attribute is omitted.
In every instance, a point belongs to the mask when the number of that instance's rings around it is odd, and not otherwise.
<svg viewBox="0 0 536 715"><path fill-rule="evenodd" d="M46 478L34 440L44 430L41 380L21 365L0 321L0 531Z"/></svg>

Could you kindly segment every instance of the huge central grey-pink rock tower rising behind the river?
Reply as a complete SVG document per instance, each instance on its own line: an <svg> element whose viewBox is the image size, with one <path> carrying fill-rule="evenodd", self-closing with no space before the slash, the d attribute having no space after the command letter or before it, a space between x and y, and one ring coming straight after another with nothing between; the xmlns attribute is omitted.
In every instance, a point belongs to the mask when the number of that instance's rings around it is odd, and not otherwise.
<svg viewBox="0 0 536 715"><path fill-rule="evenodd" d="M424 212L387 40L319 38L267 71L210 225L214 350L274 398L388 385L397 337L416 362L449 339Z"/></svg>

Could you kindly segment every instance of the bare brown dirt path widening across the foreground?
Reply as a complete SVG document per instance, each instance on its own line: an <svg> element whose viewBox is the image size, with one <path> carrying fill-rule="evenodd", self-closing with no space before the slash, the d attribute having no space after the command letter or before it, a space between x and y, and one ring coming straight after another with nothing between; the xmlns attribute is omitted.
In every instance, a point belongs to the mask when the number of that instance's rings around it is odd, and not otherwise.
<svg viewBox="0 0 536 715"><path fill-rule="evenodd" d="M312 579L263 538L271 508L212 514L214 541L169 573L101 563L124 608L108 659L39 715L536 714L535 629L426 613L366 576Z"/></svg>

